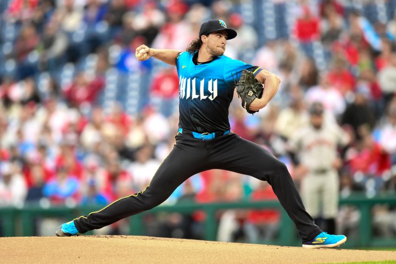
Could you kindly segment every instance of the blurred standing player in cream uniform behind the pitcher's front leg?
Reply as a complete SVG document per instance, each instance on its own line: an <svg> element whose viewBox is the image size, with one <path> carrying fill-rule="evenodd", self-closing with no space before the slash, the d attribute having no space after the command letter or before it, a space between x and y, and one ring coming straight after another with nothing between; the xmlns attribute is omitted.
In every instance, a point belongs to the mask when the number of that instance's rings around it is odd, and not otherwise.
<svg viewBox="0 0 396 264"><path fill-rule="evenodd" d="M309 108L310 123L289 140L297 174L302 176L301 198L306 211L315 222L323 224L329 233L335 233L338 211L339 175L342 160L338 146L348 143L348 136L337 124L324 122L323 105L313 103ZM321 226L323 228L323 226Z"/></svg>

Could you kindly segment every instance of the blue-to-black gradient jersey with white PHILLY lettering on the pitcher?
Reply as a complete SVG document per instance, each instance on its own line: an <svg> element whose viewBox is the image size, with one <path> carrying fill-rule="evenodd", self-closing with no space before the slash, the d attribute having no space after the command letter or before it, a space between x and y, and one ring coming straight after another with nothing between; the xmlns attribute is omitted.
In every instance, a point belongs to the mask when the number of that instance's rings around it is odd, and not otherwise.
<svg viewBox="0 0 396 264"><path fill-rule="evenodd" d="M183 52L176 57L179 127L200 133L228 130L228 107L242 70L256 76L261 69L225 55L198 63L197 54Z"/></svg>

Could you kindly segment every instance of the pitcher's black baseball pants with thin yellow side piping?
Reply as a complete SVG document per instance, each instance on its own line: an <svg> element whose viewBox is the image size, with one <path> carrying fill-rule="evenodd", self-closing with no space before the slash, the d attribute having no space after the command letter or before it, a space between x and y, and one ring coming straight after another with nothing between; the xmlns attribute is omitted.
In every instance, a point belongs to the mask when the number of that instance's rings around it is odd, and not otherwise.
<svg viewBox="0 0 396 264"><path fill-rule="evenodd" d="M118 199L105 208L74 219L80 233L98 229L122 218L147 211L164 202L185 180L198 172L224 169L267 181L296 224L303 242L321 230L305 211L286 165L257 144L229 133L200 140L187 131L176 135L176 144L142 192Z"/></svg>

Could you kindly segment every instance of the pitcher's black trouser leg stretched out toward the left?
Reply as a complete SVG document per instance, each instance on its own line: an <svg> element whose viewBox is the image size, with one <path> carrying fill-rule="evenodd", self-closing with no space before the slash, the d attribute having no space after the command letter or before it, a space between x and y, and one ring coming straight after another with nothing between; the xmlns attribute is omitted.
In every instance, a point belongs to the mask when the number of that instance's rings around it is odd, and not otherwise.
<svg viewBox="0 0 396 264"><path fill-rule="evenodd" d="M177 144L142 192L118 199L105 208L74 220L80 233L98 229L164 202L187 178L206 169L199 146Z"/></svg>

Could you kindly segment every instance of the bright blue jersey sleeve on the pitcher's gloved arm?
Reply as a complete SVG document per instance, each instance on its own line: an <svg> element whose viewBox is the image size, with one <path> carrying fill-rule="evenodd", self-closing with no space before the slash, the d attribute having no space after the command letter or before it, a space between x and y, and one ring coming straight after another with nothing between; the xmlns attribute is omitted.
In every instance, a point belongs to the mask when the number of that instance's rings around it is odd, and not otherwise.
<svg viewBox="0 0 396 264"><path fill-rule="evenodd" d="M227 59L224 65L224 80L227 85L235 87L244 69L252 71L254 77L261 71L258 66L253 66L238 59Z"/></svg>

